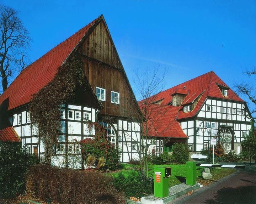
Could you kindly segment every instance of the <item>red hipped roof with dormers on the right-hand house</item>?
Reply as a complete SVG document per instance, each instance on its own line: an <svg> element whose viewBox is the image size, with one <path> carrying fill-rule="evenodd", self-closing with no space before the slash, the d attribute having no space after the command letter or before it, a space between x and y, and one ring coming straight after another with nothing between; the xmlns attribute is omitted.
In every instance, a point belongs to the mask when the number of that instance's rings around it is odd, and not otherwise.
<svg viewBox="0 0 256 204"><path fill-rule="evenodd" d="M190 118L196 115L207 97L244 102L230 88L228 89L228 96L223 96L219 85L228 88L228 85L226 85L213 71L211 71L194 79L186 81L182 84L174 86L170 89L162 91L157 96L153 97L155 97L155 101L162 100L161 105L167 105L172 101L172 94L178 92L183 94L186 93L186 90L188 94L186 95L180 106L180 111L178 113L177 119ZM177 92L177 90L179 91ZM181 92L180 90L183 91ZM183 105L192 103L200 96L200 94L202 94L202 97L200 98L194 109L191 112L183 113Z"/></svg>

